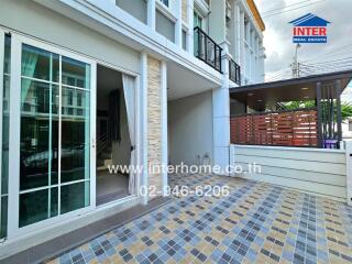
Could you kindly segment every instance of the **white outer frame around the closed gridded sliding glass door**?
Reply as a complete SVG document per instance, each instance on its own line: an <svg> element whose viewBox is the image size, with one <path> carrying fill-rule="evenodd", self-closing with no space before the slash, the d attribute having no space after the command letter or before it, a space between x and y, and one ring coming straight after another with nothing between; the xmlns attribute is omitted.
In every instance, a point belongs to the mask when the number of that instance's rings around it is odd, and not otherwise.
<svg viewBox="0 0 352 264"><path fill-rule="evenodd" d="M79 62L90 65L90 205L86 208L81 208L65 215L58 215L56 217L19 228L19 195L20 195L20 121L21 121L21 109L20 109L20 98L21 98L21 53L22 43L59 54L65 57L77 59ZM51 227L53 224L68 220L69 218L75 218L80 215L85 215L92 211L96 208L96 86L97 86L97 63L90 58L84 57L73 52L50 45L47 43L33 40L16 33L11 35L11 95L10 95L10 139L11 142L9 146L9 200L8 208L8 238L14 239L22 237L30 232L43 229L45 227ZM1 82L2 84L2 82ZM62 84L61 84L62 86ZM62 101L62 99L61 99ZM61 106L59 106L61 107ZM61 131L59 131L61 133ZM59 134L61 141L61 134ZM73 182L74 183L74 182ZM58 194L58 202L59 202Z"/></svg>

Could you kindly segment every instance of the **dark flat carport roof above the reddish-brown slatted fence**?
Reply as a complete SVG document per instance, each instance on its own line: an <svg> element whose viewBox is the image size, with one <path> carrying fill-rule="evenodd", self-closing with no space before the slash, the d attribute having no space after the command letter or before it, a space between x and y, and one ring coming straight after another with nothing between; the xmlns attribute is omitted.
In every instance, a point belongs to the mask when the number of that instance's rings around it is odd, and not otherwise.
<svg viewBox="0 0 352 264"><path fill-rule="evenodd" d="M352 70L312 75L230 88L230 97L256 109L276 102L315 100L317 99L318 82L321 82L323 87L334 85L336 80L340 80L342 92L351 79Z"/></svg>

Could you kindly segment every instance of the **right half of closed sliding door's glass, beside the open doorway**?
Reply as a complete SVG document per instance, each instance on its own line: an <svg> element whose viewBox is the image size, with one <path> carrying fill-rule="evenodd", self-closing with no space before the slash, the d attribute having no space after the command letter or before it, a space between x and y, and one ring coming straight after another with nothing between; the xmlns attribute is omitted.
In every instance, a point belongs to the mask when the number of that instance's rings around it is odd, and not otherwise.
<svg viewBox="0 0 352 264"><path fill-rule="evenodd" d="M62 79L61 211L66 213L90 200L90 66L63 57Z"/></svg>

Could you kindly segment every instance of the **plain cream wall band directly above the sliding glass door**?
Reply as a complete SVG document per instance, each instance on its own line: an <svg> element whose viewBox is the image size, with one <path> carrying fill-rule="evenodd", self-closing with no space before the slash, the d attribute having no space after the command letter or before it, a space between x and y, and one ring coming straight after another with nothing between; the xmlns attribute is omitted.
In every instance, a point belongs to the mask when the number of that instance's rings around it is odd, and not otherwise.
<svg viewBox="0 0 352 264"><path fill-rule="evenodd" d="M138 52L66 16L33 1L1 0L1 6L6 7L0 8L1 25L140 73Z"/></svg>

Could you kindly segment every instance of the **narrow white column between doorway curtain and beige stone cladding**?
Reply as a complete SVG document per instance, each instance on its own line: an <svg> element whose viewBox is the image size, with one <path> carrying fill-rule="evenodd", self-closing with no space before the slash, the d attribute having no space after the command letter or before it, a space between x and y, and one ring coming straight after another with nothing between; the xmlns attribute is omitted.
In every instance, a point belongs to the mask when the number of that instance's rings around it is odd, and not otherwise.
<svg viewBox="0 0 352 264"><path fill-rule="evenodd" d="M148 186L148 169L147 169L147 53L141 53L141 164L143 166L141 187L147 189ZM138 190L140 194L140 190ZM143 204L147 204L148 195L142 197Z"/></svg>

